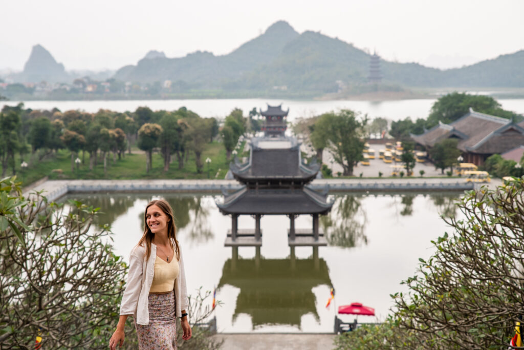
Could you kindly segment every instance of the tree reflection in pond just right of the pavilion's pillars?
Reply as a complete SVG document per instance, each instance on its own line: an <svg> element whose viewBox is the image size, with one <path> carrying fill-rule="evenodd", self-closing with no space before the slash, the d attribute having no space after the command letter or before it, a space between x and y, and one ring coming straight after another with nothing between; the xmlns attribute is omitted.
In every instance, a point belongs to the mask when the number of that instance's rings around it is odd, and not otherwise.
<svg viewBox="0 0 524 350"><path fill-rule="evenodd" d="M320 218L330 246L352 248L367 245L364 233L366 213L361 198L350 194L337 195L331 213Z"/></svg>

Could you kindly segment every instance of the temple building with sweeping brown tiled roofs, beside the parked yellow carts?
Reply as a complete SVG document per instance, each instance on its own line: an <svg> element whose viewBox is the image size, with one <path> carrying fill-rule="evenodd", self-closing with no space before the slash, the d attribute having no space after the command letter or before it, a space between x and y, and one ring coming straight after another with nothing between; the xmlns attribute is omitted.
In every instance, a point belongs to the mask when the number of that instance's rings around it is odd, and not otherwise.
<svg viewBox="0 0 524 350"><path fill-rule="evenodd" d="M472 108L453 123L439 122L421 135L411 138L429 151L445 139L456 139L465 163L482 165L493 154L503 154L524 145L524 122L475 112Z"/></svg>

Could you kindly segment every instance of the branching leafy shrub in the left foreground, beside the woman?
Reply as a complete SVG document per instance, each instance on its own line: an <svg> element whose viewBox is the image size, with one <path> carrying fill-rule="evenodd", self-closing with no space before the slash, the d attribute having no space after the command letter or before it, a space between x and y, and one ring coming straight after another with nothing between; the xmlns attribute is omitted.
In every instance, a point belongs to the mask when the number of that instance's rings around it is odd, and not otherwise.
<svg viewBox="0 0 524 350"><path fill-rule="evenodd" d="M2 348L105 348L126 264L107 227L90 230L97 209L71 209L0 181ZM6 222L8 225L6 225Z"/></svg>

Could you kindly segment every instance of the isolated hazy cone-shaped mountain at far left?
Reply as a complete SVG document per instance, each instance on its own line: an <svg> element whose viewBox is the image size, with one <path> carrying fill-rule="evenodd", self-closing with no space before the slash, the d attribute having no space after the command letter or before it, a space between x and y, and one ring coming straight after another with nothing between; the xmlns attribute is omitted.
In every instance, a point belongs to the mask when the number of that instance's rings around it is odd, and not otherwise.
<svg viewBox="0 0 524 350"><path fill-rule="evenodd" d="M29 59L24 65L24 70L15 76L17 81L58 82L69 80L62 63L58 63L48 50L41 45L32 47Z"/></svg>

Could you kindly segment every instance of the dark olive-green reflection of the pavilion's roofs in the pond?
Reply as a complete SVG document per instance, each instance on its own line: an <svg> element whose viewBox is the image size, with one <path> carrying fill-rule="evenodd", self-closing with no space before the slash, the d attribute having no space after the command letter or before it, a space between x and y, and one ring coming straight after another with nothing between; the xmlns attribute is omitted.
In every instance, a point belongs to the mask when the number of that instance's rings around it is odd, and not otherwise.
<svg viewBox="0 0 524 350"><path fill-rule="evenodd" d="M236 249L233 248L233 249ZM312 288L331 285L324 259L228 259L219 288L240 289L233 320L241 313L251 316L253 326L288 324L300 327L301 317L318 320Z"/></svg>

